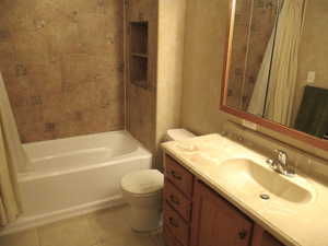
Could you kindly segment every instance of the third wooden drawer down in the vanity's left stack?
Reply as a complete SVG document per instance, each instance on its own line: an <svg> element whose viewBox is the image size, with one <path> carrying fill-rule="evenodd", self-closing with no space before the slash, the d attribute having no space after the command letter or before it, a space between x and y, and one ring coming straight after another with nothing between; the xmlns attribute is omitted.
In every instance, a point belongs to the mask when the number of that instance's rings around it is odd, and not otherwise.
<svg viewBox="0 0 328 246"><path fill-rule="evenodd" d="M173 236L184 246L189 243L189 224L175 212L167 202L164 202L164 226L167 226Z"/></svg>

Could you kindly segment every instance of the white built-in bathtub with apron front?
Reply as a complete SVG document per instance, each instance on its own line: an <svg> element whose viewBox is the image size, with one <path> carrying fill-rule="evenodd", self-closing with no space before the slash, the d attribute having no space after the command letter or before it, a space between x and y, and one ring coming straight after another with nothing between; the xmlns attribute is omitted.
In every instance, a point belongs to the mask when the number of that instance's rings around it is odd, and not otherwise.
<svg viewBox="0 0 328 246"><path fill-rule="evenodd" d="M19 174L24 214L7 232L122 203L121 177L152 166L152 154L126 131L23 147L28 156Z"/></svg>

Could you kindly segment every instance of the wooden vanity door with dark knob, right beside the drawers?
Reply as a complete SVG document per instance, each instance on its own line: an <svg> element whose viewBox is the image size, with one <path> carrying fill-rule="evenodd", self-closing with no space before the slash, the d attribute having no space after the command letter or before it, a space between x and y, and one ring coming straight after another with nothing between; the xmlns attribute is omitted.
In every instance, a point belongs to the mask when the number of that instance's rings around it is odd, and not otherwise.
<svg viewBox="0 0 328 246"><path fill-rule="evenodd" d="M253 223L206 185L196 183L191 246L248 246Z"/></svg>

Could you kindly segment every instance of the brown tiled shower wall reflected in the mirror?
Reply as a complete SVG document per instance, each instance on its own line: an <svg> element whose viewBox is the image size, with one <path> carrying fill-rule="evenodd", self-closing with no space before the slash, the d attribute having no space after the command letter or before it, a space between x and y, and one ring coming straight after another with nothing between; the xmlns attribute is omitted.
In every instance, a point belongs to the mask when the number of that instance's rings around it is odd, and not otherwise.
<svg viewBox="0 0 328 246"><path fill-rule="evenodd" d="M279 0L236 2L227 105L246 110L267 44L277 20ZM244 45L241 45L244 44Z"/></svg>

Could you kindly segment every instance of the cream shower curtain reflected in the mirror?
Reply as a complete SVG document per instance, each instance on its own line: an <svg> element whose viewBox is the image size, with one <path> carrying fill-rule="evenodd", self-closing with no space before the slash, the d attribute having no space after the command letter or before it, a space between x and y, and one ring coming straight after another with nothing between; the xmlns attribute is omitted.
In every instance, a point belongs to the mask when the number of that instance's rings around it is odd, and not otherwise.
<svg viewBox="0 0 328 246"><path fill-rule="evenodd" d="M255 85L250 101L251 107L248 108L248 112L254 114L254 105L257 107L265 105L262 107L265 118L286 126L290 126L292 121L298 47L305 7L306 0L284 0L277 23L273 58L271 60L272 38L267 47L258 83ZM269 78L269 82L267 78ZM263 89L268 89L267 98L263 96ZM255 112L255 114L259 114L259 112Z"/></svg>

